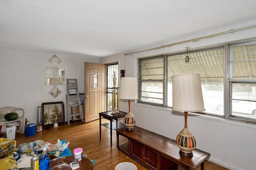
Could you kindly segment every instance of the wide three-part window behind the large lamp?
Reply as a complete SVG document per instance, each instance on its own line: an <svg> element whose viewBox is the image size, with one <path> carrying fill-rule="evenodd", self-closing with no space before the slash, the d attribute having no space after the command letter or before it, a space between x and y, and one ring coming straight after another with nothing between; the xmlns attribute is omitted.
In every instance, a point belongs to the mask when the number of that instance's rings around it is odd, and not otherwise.
<svg viewBox="0 0 256 170"><path fill-rule="evenodd" d="M228 54L228 55L226 55ZM256 41L139 59L138 102L172 107L172 76L201 75L205 114L256 121Z"/></svg>

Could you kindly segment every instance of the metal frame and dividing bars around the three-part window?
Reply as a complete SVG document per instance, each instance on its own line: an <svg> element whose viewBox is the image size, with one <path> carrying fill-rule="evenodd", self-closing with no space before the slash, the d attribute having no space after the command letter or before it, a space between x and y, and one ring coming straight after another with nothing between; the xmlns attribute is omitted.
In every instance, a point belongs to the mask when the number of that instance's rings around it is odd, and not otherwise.
<svg viewBox="0 0 256 170"><path fill-rule="evenodd" d="M248 44L256 44L256 39L249 39L249 40L245 40L245 41L237 41L234 43L224 43L222 45L212 45L210 47L201 47L198 49L195 49L194 51L200 51L200 50L204 50L204 49L211 49L211 48L218 48L218 47L223 47L224 48L224 59L223 59L223 102L224 102L224 112L223 112L223 116L222 115L214 115L212 113L207 113L207 112L199 112L200 115L207 115L210 117L222 117L222 118L226 118L226 119L233 119L233 120L237 120L237 121L246 121L246 122L250 122L250 123L256 123L256 118L251 118L251 119L247 119L246 117L239 117L239 116L234 116L232 115L232 100L230 100L230 95L232 95L232 82L256 82L255 79L252 80L230 80L230 53L231 53L231 49L230 47L235 47L235 46L239 46L239 45L248 45ZM186 51L183 52L179 52L180 53L186 53ZM141 104L150 104L152 106L160 106L163 108L168 108L168 109L172 109L172 107L168 107L167 106L167 83L168 83L168 75L167 75L167 57L170 55L176 55L178 53L168 53L168 54L162 54L162 55L156 55L156 56L149 56L149 57L143 57L143 58L138 58L138 91L139 91L139 98L138 98L138 103ZM157 57L157 56L163 56L164 57L164 80L163 82L163 105L159 105L159 104L155 104L155 103L151 103L151 102L143 102L141 101L141 82L143 82L144 80L140 79L140 59L150 59L152 57ZM152 81L152 80L151 80ZM231 91L230 91L231 90ZM231 102L230 102L231 101ZM196 113L198 114L198 113Z"/></svg>

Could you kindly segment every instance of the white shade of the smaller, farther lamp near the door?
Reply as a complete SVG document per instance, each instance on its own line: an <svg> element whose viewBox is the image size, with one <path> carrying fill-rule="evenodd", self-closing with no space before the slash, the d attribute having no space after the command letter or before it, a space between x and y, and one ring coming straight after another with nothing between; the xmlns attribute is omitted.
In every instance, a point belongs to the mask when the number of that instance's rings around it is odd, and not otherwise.
<svg viewBox="0 0 256 170"><path fill-rule="evenodd" d="M120 82L120 99L138 99L138 79L134 77L122 77Z"/></svg>

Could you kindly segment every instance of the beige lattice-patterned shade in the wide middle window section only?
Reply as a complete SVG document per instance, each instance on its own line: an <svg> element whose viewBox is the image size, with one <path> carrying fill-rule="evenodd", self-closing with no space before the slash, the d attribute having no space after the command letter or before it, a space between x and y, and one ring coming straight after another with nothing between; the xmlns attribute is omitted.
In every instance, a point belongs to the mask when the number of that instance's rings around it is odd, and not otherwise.
<svg viewBox="0 0 256 170"><path fill-rule="evenodd" d="M198 73L207 80L223 78L223 47L188 53L188 56L188 63L185 62L186 53L167 57L168 78L189 73Z"/></svg>

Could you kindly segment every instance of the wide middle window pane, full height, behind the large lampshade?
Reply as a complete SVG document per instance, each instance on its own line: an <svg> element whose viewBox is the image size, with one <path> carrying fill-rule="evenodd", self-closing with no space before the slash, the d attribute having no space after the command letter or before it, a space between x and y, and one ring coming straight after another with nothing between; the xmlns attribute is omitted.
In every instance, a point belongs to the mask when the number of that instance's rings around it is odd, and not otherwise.
<svg viewBox="0 0 256 170"><path fill-rule="evenodd" d="M205 112L224 115L224 47L188 53L190 60L185 62L186 53L167 57L167 106L172 107L172 76L198 73L201 75Z"/></svg>

